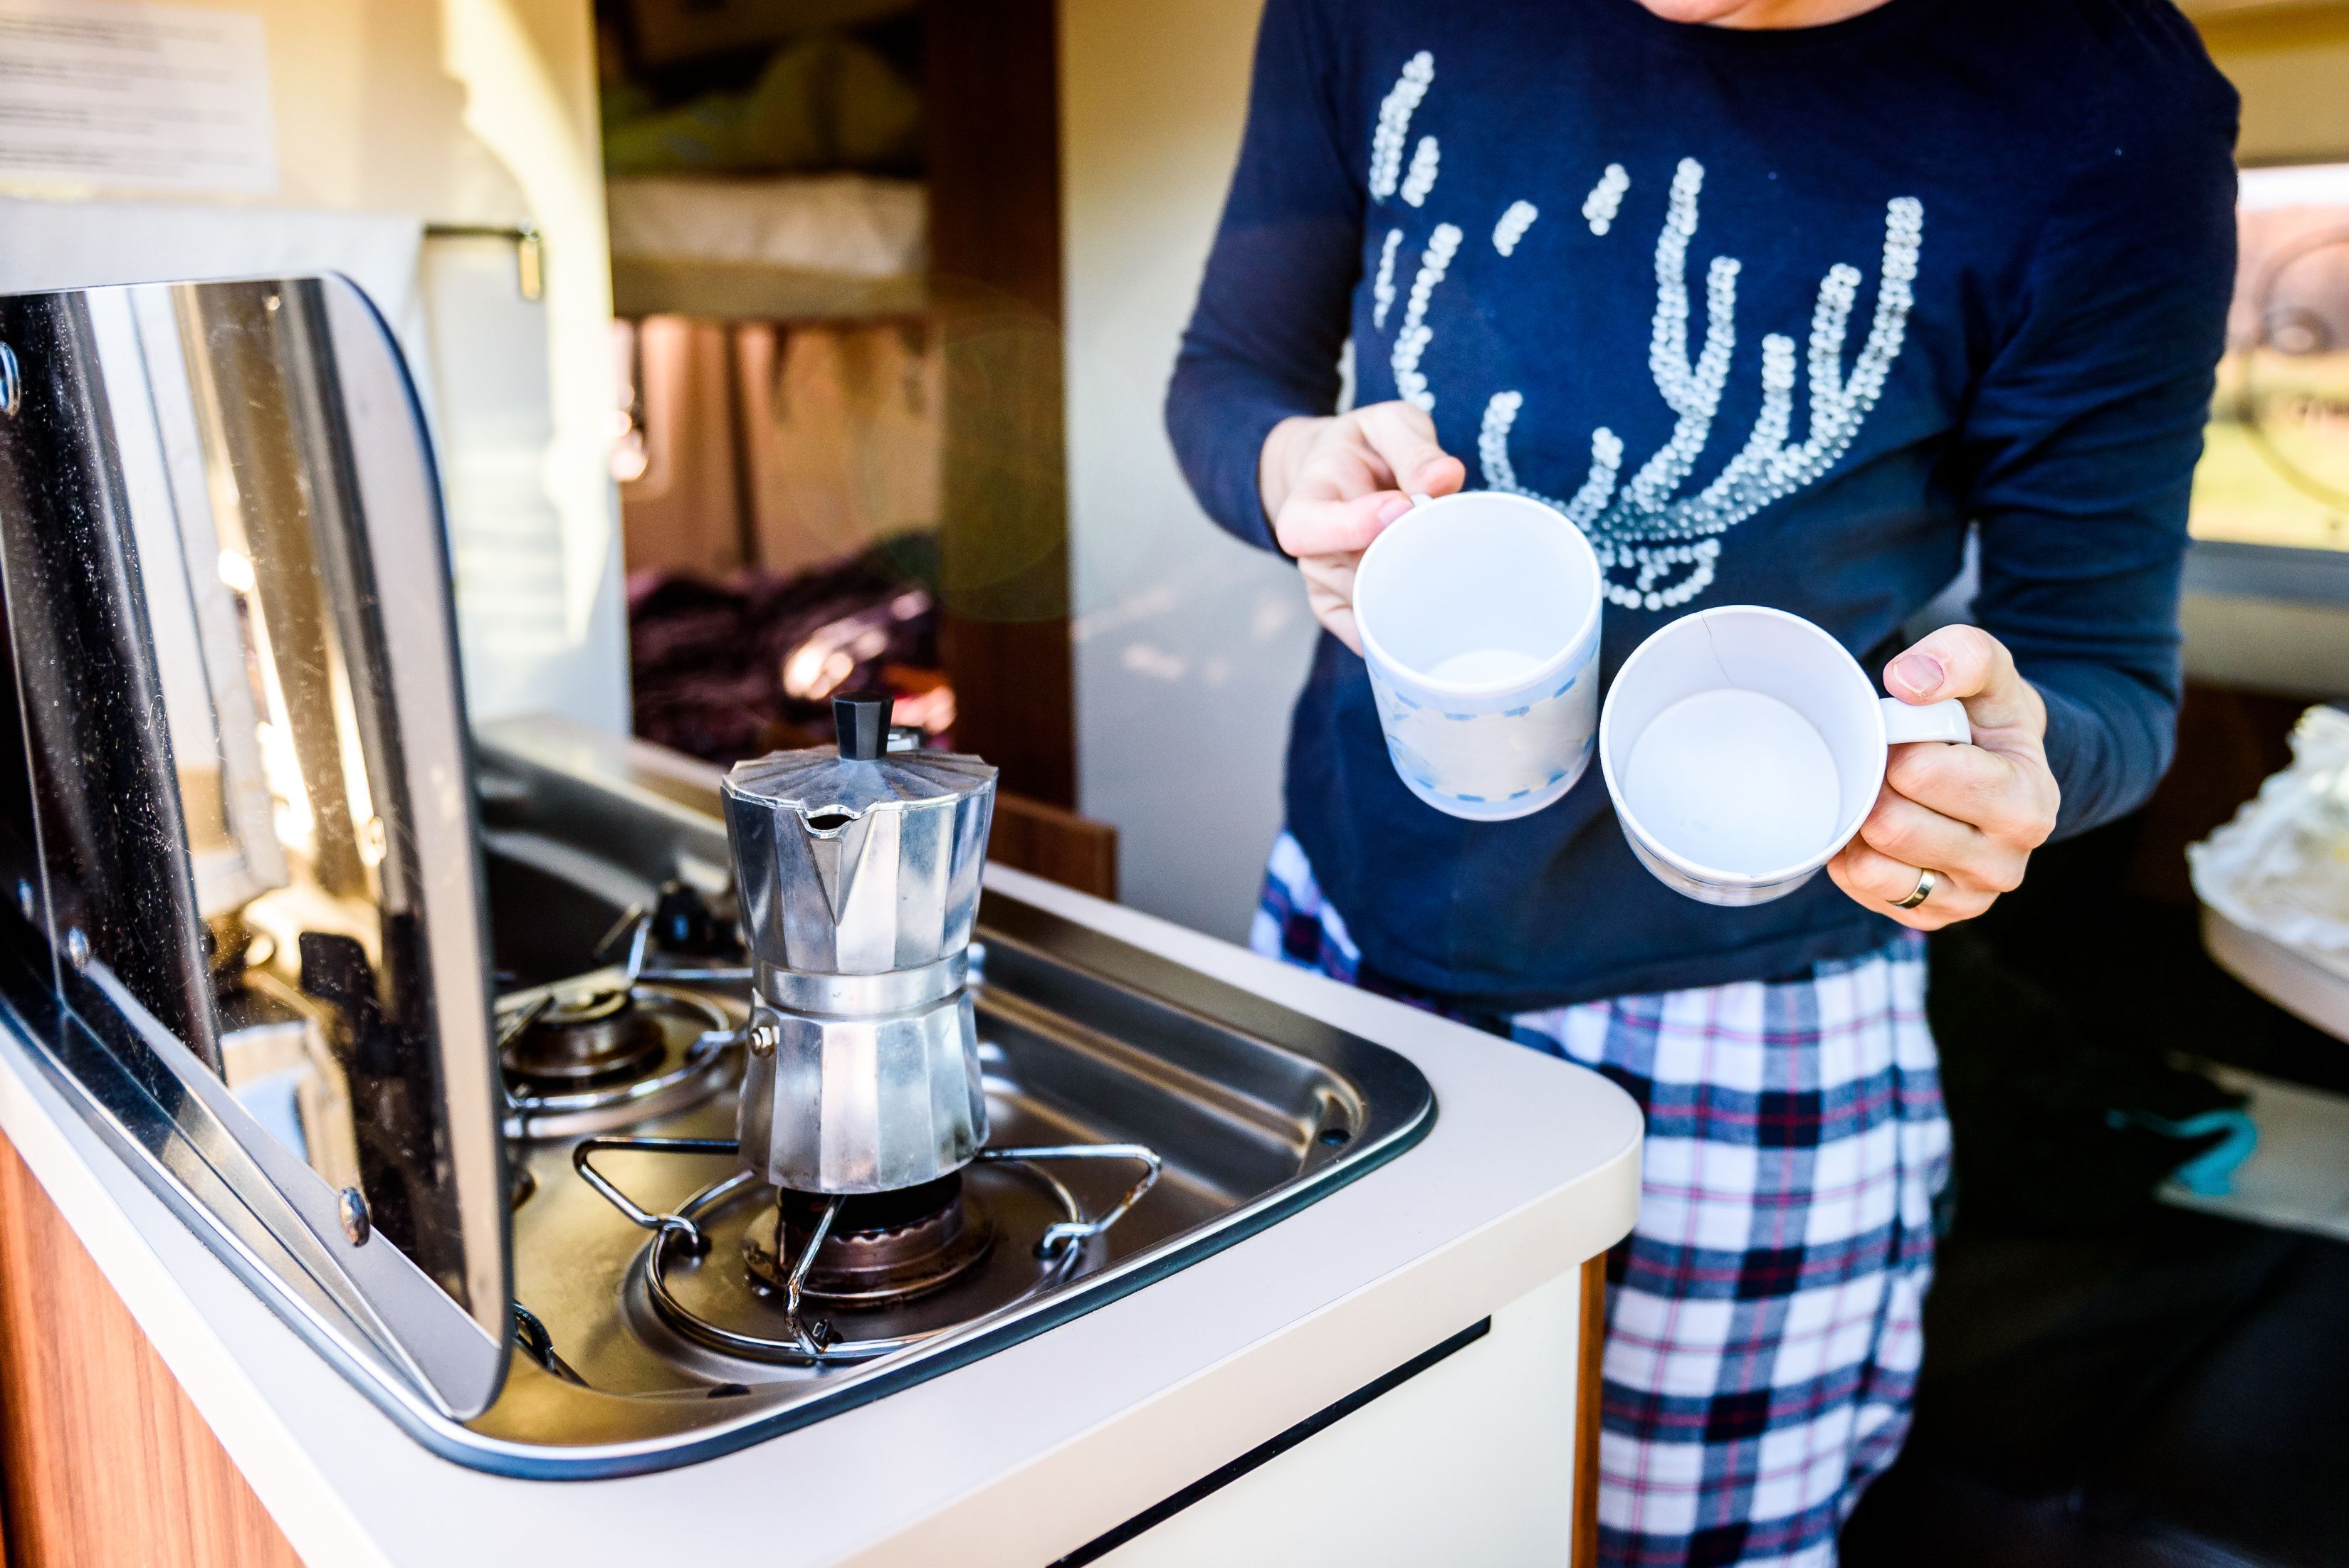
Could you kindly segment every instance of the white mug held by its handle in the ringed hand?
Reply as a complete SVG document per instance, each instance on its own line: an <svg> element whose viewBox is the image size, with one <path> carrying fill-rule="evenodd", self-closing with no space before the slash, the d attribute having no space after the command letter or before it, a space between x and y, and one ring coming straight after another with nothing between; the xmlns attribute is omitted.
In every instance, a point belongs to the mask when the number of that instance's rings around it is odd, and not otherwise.
<svg viewBox="0 0 2349 1568"><path fill-rule="evenodd" d="M1799 615L1722 606L1663 627L1616 671L1600 770L1623 838L1665 887L1766 904L1860 831L1889 746L1971 739L1966 704L1877 697Z"/></svg>

